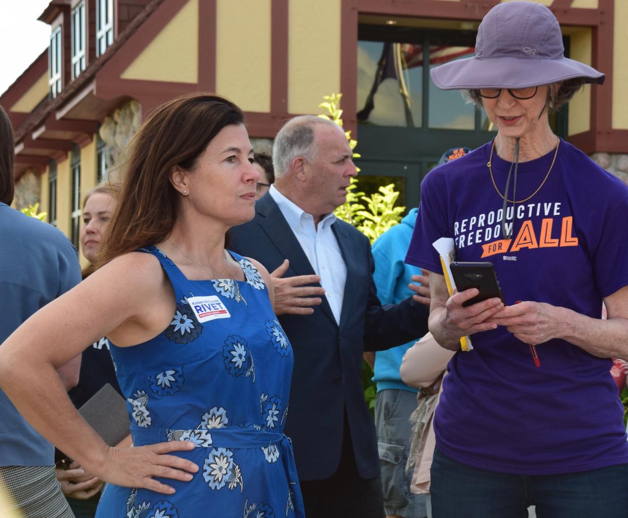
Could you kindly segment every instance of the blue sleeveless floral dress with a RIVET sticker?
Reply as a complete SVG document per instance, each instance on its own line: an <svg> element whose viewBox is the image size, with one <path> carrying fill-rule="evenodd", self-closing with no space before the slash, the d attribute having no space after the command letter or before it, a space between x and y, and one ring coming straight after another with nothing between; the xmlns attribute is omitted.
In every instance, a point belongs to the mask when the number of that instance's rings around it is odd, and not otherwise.
<svg viewBox="0 0 628 518"><path fill-rule="evenodd" d="M193 441L176 452L199 467L173 495L107 484L97 518L304 516L290 439L283 434L293 352L256 267L245 281L191 281L156 247L176 311L134 347L111 344L135 446ZM150 304L151 301L146 301Z"/></svg>

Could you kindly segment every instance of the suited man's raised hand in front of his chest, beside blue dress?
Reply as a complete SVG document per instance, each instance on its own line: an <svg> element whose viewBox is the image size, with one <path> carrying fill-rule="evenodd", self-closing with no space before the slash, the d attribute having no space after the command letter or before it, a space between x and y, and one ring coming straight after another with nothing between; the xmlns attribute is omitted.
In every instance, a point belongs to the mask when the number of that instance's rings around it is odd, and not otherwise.
<svg viewBox="0 0 628 518"><path fill-rule="evenodd" d="M283 277L288 271L290 261L285 259L283 263L271 273L274 286L275 315L311 315L313 308L322 303L320 298L325 294L325 289L320 286L305 286L305 284L320 283L318 275L299 275L295 277Z"/></svg>

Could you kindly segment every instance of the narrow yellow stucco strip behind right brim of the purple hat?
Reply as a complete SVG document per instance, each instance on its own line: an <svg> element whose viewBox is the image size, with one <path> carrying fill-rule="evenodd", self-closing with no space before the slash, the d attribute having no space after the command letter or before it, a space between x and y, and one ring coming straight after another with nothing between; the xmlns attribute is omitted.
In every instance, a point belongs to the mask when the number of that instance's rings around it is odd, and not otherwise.
<svg viewBox="0 0 628 518"><path fill-rule="evenodd" d="M570 36L570 57L591 65L592 33L590 28L564 28ZM585 85L581 92L569 102L568 135L588 131L591 127L591 85Z"/></svg>

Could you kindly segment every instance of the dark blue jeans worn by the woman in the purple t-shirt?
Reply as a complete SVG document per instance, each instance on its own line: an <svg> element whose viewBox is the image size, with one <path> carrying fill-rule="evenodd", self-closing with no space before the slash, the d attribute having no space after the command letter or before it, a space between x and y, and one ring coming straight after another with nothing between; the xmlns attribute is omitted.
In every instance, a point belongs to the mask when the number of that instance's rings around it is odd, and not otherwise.
<svg viewBox="0 0 628 518"><path fill-rule="evenodd" d="M567 475L509 475L460 464L434 451L434 518L628 518L628 465Z"/></svg>

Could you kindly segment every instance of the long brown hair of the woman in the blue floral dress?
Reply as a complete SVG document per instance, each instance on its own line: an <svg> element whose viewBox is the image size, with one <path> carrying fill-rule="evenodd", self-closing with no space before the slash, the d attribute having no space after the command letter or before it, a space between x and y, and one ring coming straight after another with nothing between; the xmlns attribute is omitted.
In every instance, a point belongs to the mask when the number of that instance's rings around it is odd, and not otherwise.
<svg viewBox="0 0 628 518"><path fill-rule="evenodd" d="M165 240L176 220L175 167L193 171L209 142L225 126L243 124L235 104L218 95L183 95L156 108L135 134L120 167L122 188L94 269Z"/></svg>

